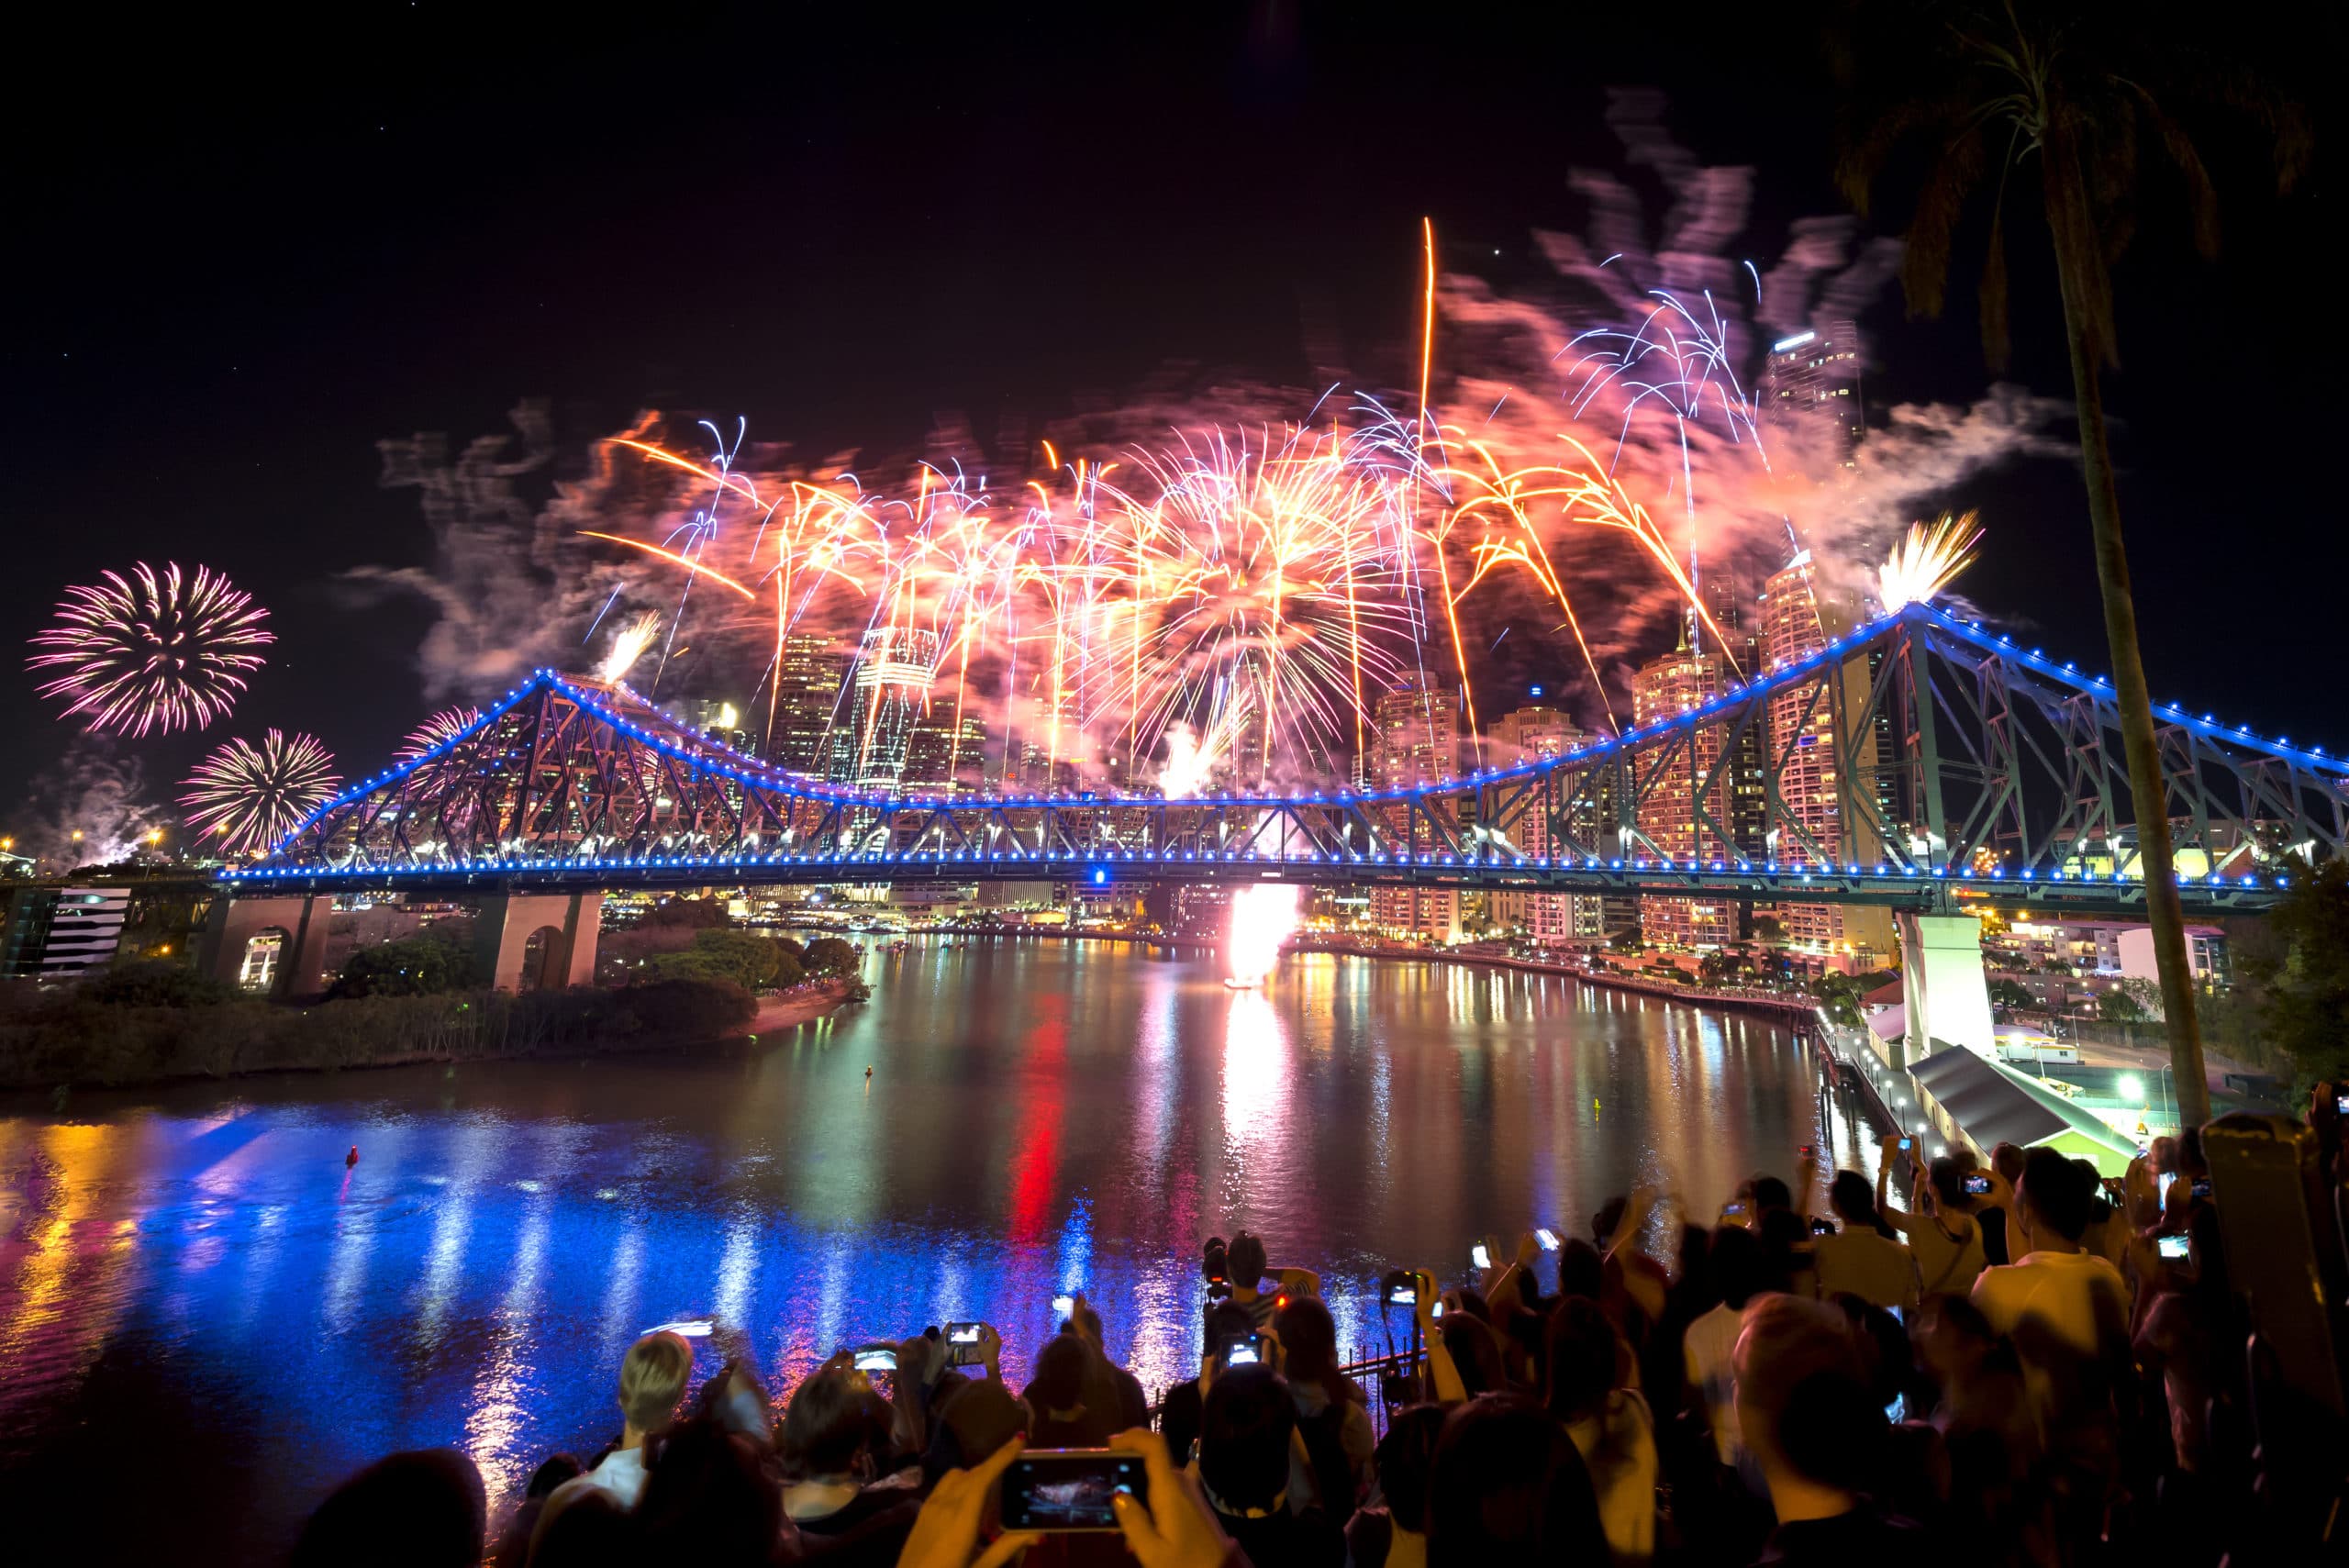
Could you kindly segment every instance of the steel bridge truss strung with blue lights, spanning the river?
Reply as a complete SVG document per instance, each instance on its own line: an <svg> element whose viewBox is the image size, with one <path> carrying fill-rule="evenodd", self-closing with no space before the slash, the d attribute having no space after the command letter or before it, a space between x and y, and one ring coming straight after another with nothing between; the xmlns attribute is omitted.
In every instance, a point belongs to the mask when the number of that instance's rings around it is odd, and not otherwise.
<svg viewBox="0 0 2349 1568"><path fill-rule="evenodd" d="M2159 709L2180 883L2260 908L2349 852L2349 765ZM1804 746L1830 746L1802 756ZM1687 714L1412 789L874 796L536 671L242 890L1177 880L2142 908L2109 683L1910 606Z"/></svg>

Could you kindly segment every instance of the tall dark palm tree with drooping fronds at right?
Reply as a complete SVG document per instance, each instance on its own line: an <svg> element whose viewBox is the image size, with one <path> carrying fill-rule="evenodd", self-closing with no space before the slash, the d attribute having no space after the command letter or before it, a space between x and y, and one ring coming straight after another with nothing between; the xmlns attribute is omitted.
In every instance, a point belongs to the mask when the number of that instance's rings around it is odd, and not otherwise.
<svg viewBox="0 0 2349 1568"><path fill-rule="evenodd" d="M1952 239L1971 197L1992 192L1990 256L1983 265L1983 350L2006 364L2006 202L2037 174L2055 279L2062 286L2072 390L2079 408L2081 469L2088 481L2088 530L2095 580L2105 599L2121 751L2138 819L2145 906L2161 972L2178 1110L2187 1124L2210 1117L2201 1023L2187 967L2185 911L2170 861L2168 791L2154 739L2154 711L2138 657L2138 606L2128 592L2128 552L2112 486L2100 376L2116 366L2112 263L2128 244L2145 195L2182 195L2203 256L2217 249L2217 204L2203 157L2180 122L2199 106L2246 113L2274 134L2276 185L2288 188L2307 162L2300 115L2208 49L2208 12L2187 16L2163 5L2098 0L2004 0L1990 5L1867 5L1867 19L1898 14L1924 35L1903 47L1860 49L1867 77L1900 94L1884 113L1856 115L1837 181L1867 211L1896 155L1924 143L1926 171L1900 270L1912 315L1940 315ZM2185 54L2187 45L2196 52ZM2175 178L2147 190L2142 148Z"/></svg>

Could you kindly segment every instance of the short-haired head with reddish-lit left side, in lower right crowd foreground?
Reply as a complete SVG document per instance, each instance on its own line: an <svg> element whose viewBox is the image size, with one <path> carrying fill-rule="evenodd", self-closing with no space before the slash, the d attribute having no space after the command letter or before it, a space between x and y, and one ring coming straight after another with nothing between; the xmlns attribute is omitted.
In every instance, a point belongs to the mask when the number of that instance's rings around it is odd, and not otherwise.
<svg viewBox="0 0 2349 1568"><path fill-rule="evenodd" d="M1755 1296L1736 1347L1738 1434L1778 1488L1785 1479L1853 1491L1882 1444L1884 1408L1839 1310L1799 1296Z"/></svg>

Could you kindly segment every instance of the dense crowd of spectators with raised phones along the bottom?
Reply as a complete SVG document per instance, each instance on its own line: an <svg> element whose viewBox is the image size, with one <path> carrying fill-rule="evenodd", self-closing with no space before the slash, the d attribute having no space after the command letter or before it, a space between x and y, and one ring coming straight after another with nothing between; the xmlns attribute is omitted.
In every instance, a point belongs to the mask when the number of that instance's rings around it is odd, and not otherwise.
<svg viewBox="0 0 2349 1568"><path fill-rule="evenodd" d="M2321 1390L2281 1425L2260 1408L2276 1368L2194 1129L2119 1181L2048 1148L1910 1162L1896 1134L1882 1155L1870 1181L1802 1150L1792 1181L1755 1176L1703 1214L1630 1192L1588 1235L1529 1232L1449 1289L1398 1270L1381 1298L1412 1350L1365 1368L1344 1366L1320 1282L1243 1232L1210 1244L1224 1279L1198 1376L1156 1406L1083 1298L1024 1387L991 1329L968 1347L933 1329L888 1373L834 1357L780 1420L747 1361L695 1385L693 1347L648 1333L618 1366L618 1437L550 1458L496 1533L463 1455L404 1453L317 1509L296 1563L1990 1568L2318 1549L2340 1430ZM998 1481L1043 1448L1120 1451L1146 1488L1113 1498L1113 1530L1005 1533Z"/></svg>

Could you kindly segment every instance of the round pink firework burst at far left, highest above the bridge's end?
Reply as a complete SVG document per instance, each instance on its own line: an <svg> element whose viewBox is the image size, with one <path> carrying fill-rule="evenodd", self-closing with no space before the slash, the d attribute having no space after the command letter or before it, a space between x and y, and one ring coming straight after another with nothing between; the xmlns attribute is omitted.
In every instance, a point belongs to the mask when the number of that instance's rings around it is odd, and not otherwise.
<svg viewBox="0 0 2349 1568"><path fill-rule="evenodd" d="M261 648L277 641L268 610L221 573L141 561L129 577L66 589L56 622L33 634L31 669L56 671L42 697L63 697L66 718L115 735L202 730L228 716Z"/></svg>

